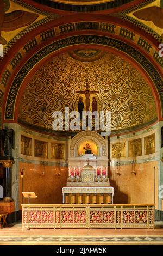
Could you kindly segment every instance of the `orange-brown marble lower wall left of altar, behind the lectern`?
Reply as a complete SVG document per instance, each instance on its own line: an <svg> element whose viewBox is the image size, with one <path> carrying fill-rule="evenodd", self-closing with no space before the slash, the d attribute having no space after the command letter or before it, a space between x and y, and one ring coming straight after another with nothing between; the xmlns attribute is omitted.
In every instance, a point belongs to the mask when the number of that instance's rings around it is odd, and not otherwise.
<svg viewBox="0 0 163 256"><path fill-rule="evenodd" d="M22 163L20 164L21 169ZM30 200L36 204L62 203L62 187L66 186L68 168L58 166L41 166L39 164L23 163L24 176L20 177L20 205L28 203L22 198L22 191L35 192L37 198ZM45 175L42 175L44 172ZM59 174L59 175L58 175ZM23 181L23 184L22 184Z"/></svg>

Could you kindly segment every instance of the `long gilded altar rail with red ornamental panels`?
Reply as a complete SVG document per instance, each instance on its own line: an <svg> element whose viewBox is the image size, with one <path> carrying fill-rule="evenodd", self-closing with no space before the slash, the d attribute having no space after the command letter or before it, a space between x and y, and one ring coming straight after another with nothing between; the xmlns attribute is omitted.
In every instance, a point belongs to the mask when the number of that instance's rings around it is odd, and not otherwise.
<svg viewBox="0 0 163 256"><path fill-rule="evenodd" d="M154 228L154 205L22 204L22 228Z"/></svg>

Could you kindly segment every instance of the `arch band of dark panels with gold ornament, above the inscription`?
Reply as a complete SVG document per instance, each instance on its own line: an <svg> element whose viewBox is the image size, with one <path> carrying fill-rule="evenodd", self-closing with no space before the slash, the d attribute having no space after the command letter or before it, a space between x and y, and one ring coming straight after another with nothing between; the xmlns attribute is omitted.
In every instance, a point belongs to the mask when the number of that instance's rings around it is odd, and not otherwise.
<svg viewBox="0 0 163 256"><path fill-rule="evenodd" d="M0 80L0 90L4 92L4 88L7 86L9 78L11 77L12 72L15 70L16 66L21 62L21 60L24 57L28 56L29 52L32 51L36 46L41 45L42 43L44 43L45 41L51 38L55 39L59 35L64 35L71 32L87 31L87 29L89 29L89 31L100 31L100 32L109 33L109 35L112 35L112 36L119 36L120 39L122 40L127 39L129 43L131 44L134 43L136 46L140 48L140 50L149 54L149 56L151 56L155 60L155 62L158 64L158 66L160 66L162 69L163 58L159 56L158 47L154 46L154 44L152 44L149 40L147 40L145 36L142 36L142 35L140 36L139 34L136 34L136 32L131 32L129 31L129 29L121 26L116 25L114 22L106 23L106 22L99 22L99 21L71 22L71 23L68 23L68 24L65 23L56 27L52 26L51 28L47 29L46 31L38 35L35 35L31 40L26 41L26 43L22 44L23 46L16 51L17 53L14 54L14 57L12 57L10 60L9 58L7 58L8 64L6 66L6 69L4 70L3 69L4 66L2 67L3 75ZM11 52L11 54L13 53ZM5 57L3 58L3 60L4 59Z"/></svg>

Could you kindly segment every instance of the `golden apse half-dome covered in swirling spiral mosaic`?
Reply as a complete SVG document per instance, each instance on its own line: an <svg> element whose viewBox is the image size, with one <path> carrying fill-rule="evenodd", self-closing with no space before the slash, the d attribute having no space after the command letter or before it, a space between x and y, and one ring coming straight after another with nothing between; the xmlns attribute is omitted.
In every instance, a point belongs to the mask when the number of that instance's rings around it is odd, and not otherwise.
<svg viewBox="0 0 163 256"><path fill-rule="evenodd" d="M86 83L91 91L89 103L85 100ZM64 112L65 106L70 111L78 110L80 97L84 110L89 107L90 111L111 111L111 130L152 123L157 117L151 89L126 60L106 53L92 62L84 62L62 53L37 70L27 84L18 120L52 129L52 113Z"/></svg>

